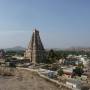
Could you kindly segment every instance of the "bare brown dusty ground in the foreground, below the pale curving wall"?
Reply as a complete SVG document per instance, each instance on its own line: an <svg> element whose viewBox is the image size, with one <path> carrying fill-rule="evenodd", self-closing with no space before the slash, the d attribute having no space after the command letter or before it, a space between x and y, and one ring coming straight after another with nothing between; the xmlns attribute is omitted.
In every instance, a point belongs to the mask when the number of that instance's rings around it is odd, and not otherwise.
<svg viewBox="0 0 90 90"><path fill-rule="evenodd" d="M0 76L0 90L69 90L59 87L36 73L19 71L15 76Z"/></svg>

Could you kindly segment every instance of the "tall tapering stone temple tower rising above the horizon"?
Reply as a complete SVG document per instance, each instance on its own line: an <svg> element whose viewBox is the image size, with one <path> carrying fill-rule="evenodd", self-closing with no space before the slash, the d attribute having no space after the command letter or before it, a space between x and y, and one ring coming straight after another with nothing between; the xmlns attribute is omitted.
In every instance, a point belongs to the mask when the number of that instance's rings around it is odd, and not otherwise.
<svg viewBox="0 0 90 90"><path fill-rule="evenodd" d="M30 59L34 64L45 62L46 53L39 36L39 31L36 29L33 31L31 41L26 49L25 58Z"/></svg>

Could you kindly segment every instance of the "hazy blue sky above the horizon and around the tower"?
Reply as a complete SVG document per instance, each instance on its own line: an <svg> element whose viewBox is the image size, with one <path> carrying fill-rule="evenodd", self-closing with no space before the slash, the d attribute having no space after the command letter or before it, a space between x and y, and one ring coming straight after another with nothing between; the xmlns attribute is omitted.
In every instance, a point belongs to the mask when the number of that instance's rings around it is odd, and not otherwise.
<svg viewBox="0 0 90 90"><path fill-rule="evenodd" d="M27 47L33 28L45 48L90 46L90 0L0 0L0 48Z"/></svg>

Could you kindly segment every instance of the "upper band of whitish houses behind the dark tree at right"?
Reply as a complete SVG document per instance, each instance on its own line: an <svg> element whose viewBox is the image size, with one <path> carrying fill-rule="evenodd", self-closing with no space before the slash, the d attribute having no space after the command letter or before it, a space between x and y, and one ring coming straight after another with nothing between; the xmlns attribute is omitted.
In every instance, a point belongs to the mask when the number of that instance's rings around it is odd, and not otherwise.
<svg viewBox="0 0 90 90"><path fill-rule="evenodd" d="M68 55L66 59L60 59L59 63L64 65L73 65L77 66L80 63L83 63L84 66L87 66L89 59L87 58L87 55Z"/></svg>

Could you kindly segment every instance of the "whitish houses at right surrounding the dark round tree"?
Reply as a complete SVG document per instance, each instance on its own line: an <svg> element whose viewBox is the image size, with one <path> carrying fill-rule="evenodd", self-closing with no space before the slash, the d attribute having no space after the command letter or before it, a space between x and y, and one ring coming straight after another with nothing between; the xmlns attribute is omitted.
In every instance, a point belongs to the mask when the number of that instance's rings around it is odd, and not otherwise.
<svg viewBox="0 0 90 90"><path fill-rule="evenodd" d="M87 55L68 55L66 59L60 59L59 64L61 65L64 71L64 76L67 78L66 85L80 89L83 81L87 83L89 62L90 60ZM76 76L75 78L72 78L73 70L79 64L82 64L84 66L84 73L81 75L81 77Z"/></svg>

